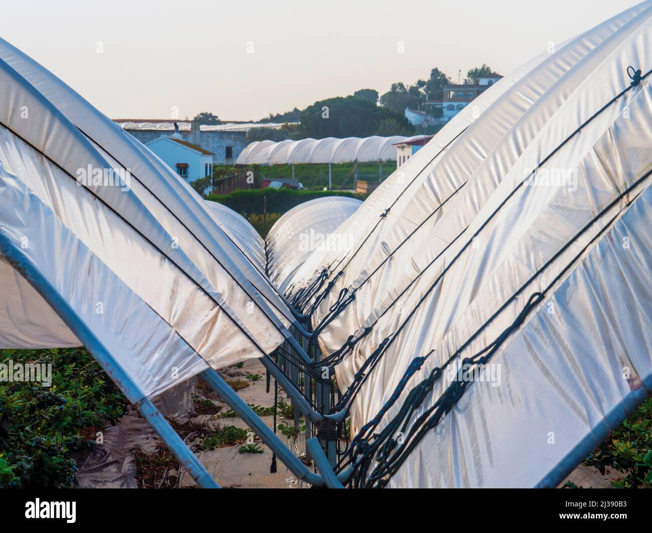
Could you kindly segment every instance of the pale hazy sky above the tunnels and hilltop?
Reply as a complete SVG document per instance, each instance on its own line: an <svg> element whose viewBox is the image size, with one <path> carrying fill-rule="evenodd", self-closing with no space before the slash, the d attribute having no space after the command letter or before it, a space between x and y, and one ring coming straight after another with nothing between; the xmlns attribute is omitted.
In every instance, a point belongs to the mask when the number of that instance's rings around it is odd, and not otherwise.
<svg viewBox="0 0 652 533"><path fill-rule="evenodd" d="M111 118L257 120L435 66L509 74L636 3L0 0L0 36Z"/></svg>

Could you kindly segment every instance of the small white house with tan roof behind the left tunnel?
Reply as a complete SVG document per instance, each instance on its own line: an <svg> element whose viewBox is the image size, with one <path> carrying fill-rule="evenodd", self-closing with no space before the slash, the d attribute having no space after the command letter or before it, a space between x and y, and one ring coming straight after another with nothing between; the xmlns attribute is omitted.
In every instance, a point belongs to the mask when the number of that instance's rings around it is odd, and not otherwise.
<svg viewBox="0 0 652 533"><path fill-rule="evenodd" d="M147 148L188 182L213 175L213 152L181 139L179 134L158 137Z"/></svg>

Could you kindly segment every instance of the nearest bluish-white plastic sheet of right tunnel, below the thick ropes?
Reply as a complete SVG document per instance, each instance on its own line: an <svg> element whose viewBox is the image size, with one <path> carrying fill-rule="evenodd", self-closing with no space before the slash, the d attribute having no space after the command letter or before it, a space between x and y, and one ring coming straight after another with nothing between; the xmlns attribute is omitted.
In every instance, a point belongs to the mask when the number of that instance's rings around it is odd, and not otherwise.
<svg viewBox="0 0 652 533"><path fill-rule="evenodd" d="M554 488L649 395L651 193L494 356L500 385L473 383L390 487Z"/></svg>

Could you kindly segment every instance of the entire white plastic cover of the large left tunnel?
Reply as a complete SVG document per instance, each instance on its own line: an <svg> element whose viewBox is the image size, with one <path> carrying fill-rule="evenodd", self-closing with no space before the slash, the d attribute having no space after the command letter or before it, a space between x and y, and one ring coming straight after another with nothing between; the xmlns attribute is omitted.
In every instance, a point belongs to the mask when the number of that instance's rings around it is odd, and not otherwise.
<svg viewBox="0 0 652 533"><path fill-rule="evenodd" d="M282 342L282 298L183 180L4 41L0 78L3 347L82 341L139 401Z"/></svg>

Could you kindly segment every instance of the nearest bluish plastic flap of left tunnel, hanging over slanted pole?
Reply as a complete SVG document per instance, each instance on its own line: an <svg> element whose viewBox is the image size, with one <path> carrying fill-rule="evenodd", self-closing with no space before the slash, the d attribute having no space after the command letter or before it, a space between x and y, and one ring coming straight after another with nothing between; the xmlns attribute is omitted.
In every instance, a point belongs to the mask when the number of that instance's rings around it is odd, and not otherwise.
<svg viewBox="0 0 652 533"><path fill-rule="evenodd" d="M132 402L153 396L208 367L169 324L63 225L52 209L8 173L4 163L0 164L0 178L0 250L9 255L8 247L13 245L12 265L16 254L36 268L50 265L38 268L52 287L44 296L49 299L52 294L62 295L72 310L57 310L65 315L72 330L68 333L44 297L27 289L27 281L14 270L17 282L3 285L3 293L5 287L18 292L27 305L24 310L16 306L22 315L19 322L16 318L20 315L14 315L13 307L7 308L4 295L1 298L1 306L10 313L0 328L3 347L78 345L72 332L76 331L76 322L83 322L138 385L142 396L131 388L125 389ZM18 205L20 210L16 209ZM65 265L61 257L66 257ZM8 281L7 277L3 276L3 281ZM40 310L31 313L30 308L36 306ZM175 372L171 371L173 367ZM109 370L109 375L112 373Z"/></svg>

